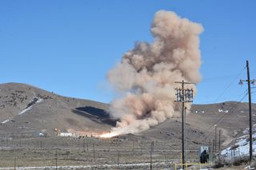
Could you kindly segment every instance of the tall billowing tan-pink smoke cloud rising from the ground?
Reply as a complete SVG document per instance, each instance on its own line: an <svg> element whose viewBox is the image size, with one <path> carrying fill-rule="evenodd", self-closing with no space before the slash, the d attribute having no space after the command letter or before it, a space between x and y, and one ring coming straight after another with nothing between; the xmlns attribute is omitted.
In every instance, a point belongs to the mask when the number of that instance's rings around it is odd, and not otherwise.
<svg viewBox="0 0 256 170"><path fill-rule="evenodd" d="M120 120L112 133L142 132L181 114L180 104L174 102L174 88L180 85L174 81L200 81L202 30L174 12L160 10L154 15L154 42L136 43L108 73L108 80L122 94L110 104L111 115Z"/></svg>

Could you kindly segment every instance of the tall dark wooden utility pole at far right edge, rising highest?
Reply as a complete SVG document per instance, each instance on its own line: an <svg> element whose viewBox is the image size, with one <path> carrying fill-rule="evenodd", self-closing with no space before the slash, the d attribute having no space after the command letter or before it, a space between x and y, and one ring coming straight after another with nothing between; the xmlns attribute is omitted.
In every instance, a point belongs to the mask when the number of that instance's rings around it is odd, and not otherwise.
<svg viewBox="0 0 256 170"><path fill-rule="evenodd" d="M250 162L253 158L253 132L252 132L252 117L251 117L251 93L250 93L250 84L256 82L256 80L250 80L250 69L249 69L249 61L246 61L246 68L247 68L247 80L240 80L239 85L242 85L244 81L247 82L248 85L248 97L249 97L249 136L250 136Z"/></svg>

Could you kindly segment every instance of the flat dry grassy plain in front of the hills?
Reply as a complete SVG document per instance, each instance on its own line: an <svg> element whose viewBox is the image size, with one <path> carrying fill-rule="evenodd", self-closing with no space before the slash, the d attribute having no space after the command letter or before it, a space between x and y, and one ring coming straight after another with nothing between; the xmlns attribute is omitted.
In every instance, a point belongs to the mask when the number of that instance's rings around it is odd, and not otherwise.
<svg viewBox="0 0 256 170"><path fill-rule="evenodd" d="M0 169L172 169L181 153L171 144L152 140L10 134L0 139ZM198 151L190 150L190 155L196 157Z"/></svg>

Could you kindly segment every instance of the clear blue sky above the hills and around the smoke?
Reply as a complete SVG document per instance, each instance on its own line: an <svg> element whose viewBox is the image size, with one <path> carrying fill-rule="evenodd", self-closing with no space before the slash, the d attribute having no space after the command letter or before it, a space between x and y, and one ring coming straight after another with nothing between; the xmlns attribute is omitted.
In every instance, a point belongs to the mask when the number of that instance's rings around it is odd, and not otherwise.
<svg viewBox="0 0 256 170"><path fill-rule="evenodd" d="M238 81L246 78L246 60L256 79L255 6L254 0L2 0L0 83L110 102L114 94L107 71L134 42L152 42L156 11L172 10L205 29L200 37L203 79L194 103L240 101L246 85ZM256 102L256 93L252 97Z"/></svg>

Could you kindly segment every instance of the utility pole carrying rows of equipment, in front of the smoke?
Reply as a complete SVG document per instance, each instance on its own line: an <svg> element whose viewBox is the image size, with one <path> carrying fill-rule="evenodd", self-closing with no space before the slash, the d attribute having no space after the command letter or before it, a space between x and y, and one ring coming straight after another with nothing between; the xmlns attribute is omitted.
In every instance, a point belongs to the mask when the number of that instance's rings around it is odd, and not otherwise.
<svg viewBox="0 0 256 170"><path fill-rule="evenodd" d="M175 83L182 84L182 89L176 89L176 102L182 102L182 169L185 168L185 136L184 136L184 117L185 115L185 103L193 102L193 89L184 89L185 84L194 84L185 81L175 81ZM185 122L186 124L186 122Z"/></svg>

